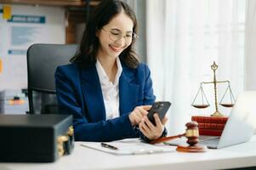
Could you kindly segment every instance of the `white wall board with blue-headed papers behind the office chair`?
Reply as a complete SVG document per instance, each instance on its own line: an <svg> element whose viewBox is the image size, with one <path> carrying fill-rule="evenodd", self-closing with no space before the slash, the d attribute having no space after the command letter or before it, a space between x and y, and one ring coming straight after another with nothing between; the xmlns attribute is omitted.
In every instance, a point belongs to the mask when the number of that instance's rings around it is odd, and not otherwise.
<svg viewBox="0 0 256 170"><path fill-rule="evenodd" d="M0 4L0 91L27 88L26 51L34 43L65 43L65 9Z"/></svg>

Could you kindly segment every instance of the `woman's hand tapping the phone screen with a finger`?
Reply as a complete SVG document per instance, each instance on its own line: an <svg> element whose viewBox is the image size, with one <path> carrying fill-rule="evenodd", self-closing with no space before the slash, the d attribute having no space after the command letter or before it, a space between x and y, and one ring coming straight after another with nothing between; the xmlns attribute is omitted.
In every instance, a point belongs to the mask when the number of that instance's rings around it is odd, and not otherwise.
<svg viewBox="0 0 256 170"><path fill-rule="evenodd" d="M141 122L141 119L143 116L148 114L148 111L150 111L151 105L140 105L134 108L134 111L132 111L129 114L129 120L132 124L132 126L139 125L139 122Z"/></svg>

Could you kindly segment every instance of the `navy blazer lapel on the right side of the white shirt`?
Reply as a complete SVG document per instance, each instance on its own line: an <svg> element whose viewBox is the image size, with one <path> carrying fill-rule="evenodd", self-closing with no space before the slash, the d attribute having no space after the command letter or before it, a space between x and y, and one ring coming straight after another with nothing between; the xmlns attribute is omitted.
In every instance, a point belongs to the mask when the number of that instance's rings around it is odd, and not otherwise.
<svg viewBox="0 0 256 170"><path fill-rule="evenodd" d="M122 65L122 75L119 78L119 111L120 115L134 110L137 106L139 85L135 84L134 72Z"/></svg>

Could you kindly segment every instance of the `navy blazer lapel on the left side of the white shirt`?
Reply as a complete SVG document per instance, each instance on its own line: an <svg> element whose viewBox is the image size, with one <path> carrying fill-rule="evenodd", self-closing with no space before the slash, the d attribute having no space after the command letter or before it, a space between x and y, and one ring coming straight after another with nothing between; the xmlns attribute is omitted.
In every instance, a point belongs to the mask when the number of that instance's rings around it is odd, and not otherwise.
<svg viewBox="0 0 256 170"><path fill-rule="evenodd" d="M81 83L89 118L92 122L105 120L105 105L95 65L82 70Z"/></svg>

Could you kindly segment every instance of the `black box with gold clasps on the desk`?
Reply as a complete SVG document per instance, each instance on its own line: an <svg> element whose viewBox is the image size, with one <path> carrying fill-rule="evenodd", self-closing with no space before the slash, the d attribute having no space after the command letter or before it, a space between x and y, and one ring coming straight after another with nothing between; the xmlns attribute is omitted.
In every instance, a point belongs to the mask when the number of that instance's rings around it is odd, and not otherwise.
<svg viewBox="0 0 256 170"><path fill-rule="evenodd" d="M0 161L51 162L74 147L71 115L0 115Z"/></svg>

